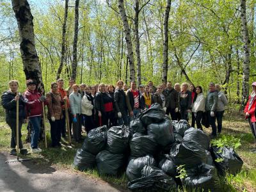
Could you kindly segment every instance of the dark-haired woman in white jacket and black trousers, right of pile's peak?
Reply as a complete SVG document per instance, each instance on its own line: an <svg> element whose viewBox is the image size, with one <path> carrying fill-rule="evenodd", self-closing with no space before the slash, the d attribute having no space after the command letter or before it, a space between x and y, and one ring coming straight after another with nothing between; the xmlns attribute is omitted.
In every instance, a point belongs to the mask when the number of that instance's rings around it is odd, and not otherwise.
<svg viewBox="0 0 256 192"><path fill-rule="evenodd" d="M205 97L203 94L202 86L196 86L196 93L197 97L193 103L192 111L195 113L197 129L202 130L201 120L205 111Z"/></svg>

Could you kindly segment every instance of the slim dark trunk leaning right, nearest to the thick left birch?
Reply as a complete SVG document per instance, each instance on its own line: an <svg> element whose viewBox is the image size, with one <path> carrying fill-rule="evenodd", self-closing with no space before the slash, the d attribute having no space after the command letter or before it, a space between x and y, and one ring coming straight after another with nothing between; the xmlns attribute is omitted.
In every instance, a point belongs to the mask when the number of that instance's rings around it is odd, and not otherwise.
<svg viewBox="0 0 256 192"><path fill-rule="evenodd" d="M62 26L61 58L60 58L60 66L58 68L57 75L56 75L56 80L60 78L61 70L63 68L63 63L65 59L67 17L68 17L68 0L65 0L65 14L64 14L64 21Z"/></svg>

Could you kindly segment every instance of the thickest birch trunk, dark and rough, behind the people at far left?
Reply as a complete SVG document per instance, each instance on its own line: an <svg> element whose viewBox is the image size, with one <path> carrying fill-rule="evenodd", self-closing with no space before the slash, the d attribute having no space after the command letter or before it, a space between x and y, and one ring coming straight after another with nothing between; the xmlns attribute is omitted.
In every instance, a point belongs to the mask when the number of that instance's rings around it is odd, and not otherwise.
<svg viewBox="0 0 256 192"><path fill-rule="evenodd" d="M20 36L20 53L26 79L33 79L38 90L44 93L44 83L40 61L35 47L33 15L26 0L12 0L12 8L17 19Z"/></svg>

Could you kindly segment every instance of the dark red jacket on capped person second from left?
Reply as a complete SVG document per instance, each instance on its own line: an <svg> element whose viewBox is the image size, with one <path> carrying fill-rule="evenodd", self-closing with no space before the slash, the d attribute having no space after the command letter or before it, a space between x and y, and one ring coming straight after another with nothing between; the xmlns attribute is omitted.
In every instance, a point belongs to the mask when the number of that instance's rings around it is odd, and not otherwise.
<svg viewBox="0 0 256 192"><path fill-rule="evenodd" d="M35 90L31 92L26 90L24 93L24 100L26 102L26 116L41 116L42 115L42 102L39 98L41 94Z"/></svg>

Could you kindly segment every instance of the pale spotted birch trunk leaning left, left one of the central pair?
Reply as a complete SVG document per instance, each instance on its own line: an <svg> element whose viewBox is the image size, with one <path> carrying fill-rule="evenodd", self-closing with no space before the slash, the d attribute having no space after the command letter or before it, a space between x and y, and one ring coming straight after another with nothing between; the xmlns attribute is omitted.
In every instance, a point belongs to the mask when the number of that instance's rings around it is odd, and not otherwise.
<svg viewBox="0 0 256 192"><path fill-rule="evenodd" d="M129 28L127 15L125 13L124 0L118 0L118 10L120 12L121 19L123 22L123 27L124 27L125 41L126 41L126 47L127 47L127 57L129 60L129 67L130 67L130 81L135 81L134 56L133 56L133 51L132 51L131 29Z"/></svg>

